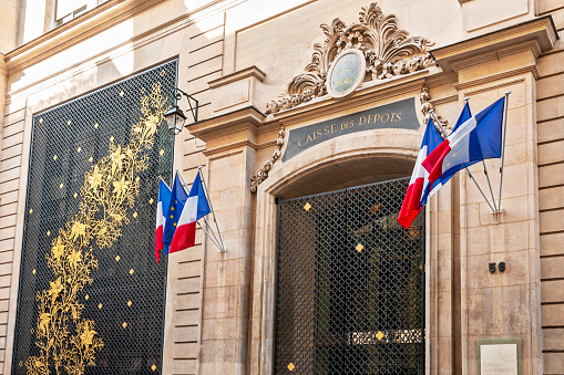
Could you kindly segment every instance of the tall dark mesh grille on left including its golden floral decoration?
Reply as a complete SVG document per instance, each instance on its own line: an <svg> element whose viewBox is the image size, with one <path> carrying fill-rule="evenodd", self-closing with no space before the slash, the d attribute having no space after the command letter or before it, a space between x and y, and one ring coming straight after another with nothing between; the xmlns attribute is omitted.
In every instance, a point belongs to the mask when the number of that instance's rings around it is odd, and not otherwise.
<svg viewBox="0 0 564 375"><path fill-rule="evenodd" d="M161 372L166 258L155 263L155 212L158 176L172 170L162 113L175 102L176 65L33 116L12 374Z"/></svg>

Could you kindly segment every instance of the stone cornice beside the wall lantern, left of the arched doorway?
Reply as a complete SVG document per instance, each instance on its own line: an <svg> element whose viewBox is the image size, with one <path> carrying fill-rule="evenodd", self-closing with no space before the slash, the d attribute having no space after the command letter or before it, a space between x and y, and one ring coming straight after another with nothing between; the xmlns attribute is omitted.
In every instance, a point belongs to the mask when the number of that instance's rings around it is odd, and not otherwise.
<svg viewBox="0 0 564 375"><path fill-rule="evenodd" d="M263 124L265 115L257 108L249 106L230 112L225 115L207 118L187 126L191 134L202 140L222 137L240 131L258 133L258 126Z"/></svg>

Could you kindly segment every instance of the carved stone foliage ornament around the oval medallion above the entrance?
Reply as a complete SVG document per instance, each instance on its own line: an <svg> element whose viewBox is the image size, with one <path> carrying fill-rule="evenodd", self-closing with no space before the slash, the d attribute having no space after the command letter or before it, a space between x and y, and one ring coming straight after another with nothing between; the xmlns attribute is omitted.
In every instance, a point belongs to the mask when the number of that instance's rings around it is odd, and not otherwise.
<svg viewBox="0 0 564 375"><path fill-rule="evenodd" d="M396 15L384 15L376 2L362 7L358 23L346 25L335 19L331 25L321 24L327 39L316 43L311 63L306 72L295 76L280 100L266 105L266 114L288 110L327 94L327 73L335 59L345 50L356 49L366 60L363 81L392 79L434 65L427 48L432 45L422 37L409 37L398 29Z"/></svg>

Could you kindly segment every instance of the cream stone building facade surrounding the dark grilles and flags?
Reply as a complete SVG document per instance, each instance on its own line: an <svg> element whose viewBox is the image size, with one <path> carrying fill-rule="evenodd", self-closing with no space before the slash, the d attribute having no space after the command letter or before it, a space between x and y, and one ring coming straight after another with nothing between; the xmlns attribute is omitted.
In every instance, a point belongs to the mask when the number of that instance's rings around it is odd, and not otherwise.
<svg viewBox="0 0 564 375"><path fill-rule="evenodd" d="M286 319L277 314L284 298L280 231L288 230L280 227L281 205L409 177L431 108L450 131L465 97L478 113L511 92L503 211L491 212L465 170L427 205L417 235L424 249L418 263L424 290L413 300L423 311L419 334L424 340L417 341L423 345L418 352L423 365L419 372L391 372L478 374L480 343L513 340L520 374L564 374L562 1L0 2L2 374L24 368L14 362L14 346L20 284L29 277L22 271L23 228L38 116L171 61L177 62L177 87L198 101L198 121L188 115L175 137L173 168L189 183L203 167L226 250L218 251L198 230L194 248L167 257L164 319L157 322L162 358L124 373L339 373L316 362L315 351L277 365L284 357L277 334ZM358 56L360 79L337 90L331 70L347 53ZM178 105L186 110L183 100ZM373 111L376 116L378 108L393 111L386 121L378 113L378 126L359 128L360 117ZM412 117L404 115L409 111ZM357 123L343 125L348 121ZM365 121L369 125L370 117ZM501 160L485 165L495 190ZM470 167L486 187L482 170L481 164ZM153 218L154 207L140 215ZM305 228L319 220L291 219ZM358 244L351 250L370 248ZM304 247L298 240L294 246ZM153 251L151 246L143 250ZM490 263L495 263L493 273ZM310 271L317 272L311 282L318 285L321 272ZM308 290L307 283L294 287ZM317 301L308 305L311 316L321 319L317 305L324 294L310 293ZM38 332L47 332L41 316L34 319ZM319 330L311 338L316 350ZM357 341L338 345L400 343L384 329L371 330L347 332ZM360 366L378 373L363 358ZM106 364L92 362L92 371L103 373Z"/></svg>

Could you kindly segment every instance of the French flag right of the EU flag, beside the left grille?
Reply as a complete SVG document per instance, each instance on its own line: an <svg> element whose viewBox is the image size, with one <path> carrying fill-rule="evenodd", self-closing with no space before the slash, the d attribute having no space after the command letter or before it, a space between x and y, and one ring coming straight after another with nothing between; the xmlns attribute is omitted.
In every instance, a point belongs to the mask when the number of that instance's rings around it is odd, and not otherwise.
<svg viewBox="0 0 564 375"><path fill-rule="evenodd" d="M168 252L193 247L196 242L196 221L211 211L198 173L189 189L188 199L182 210Z"/></svg>

